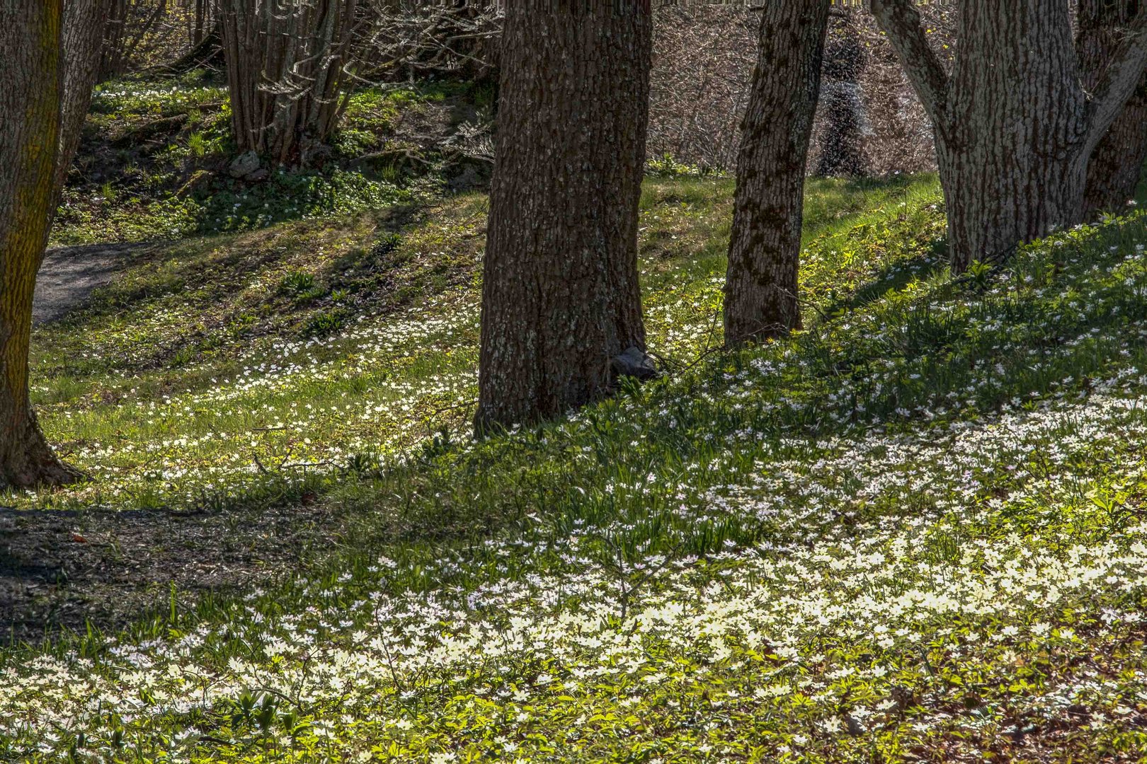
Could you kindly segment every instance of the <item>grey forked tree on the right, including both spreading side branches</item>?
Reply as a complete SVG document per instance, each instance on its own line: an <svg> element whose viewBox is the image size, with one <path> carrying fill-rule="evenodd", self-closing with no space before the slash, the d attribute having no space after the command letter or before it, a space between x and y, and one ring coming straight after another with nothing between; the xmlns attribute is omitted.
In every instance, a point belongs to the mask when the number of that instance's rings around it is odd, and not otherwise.
<svg viewBox="0 0 1147 764"><path fill-rule="evenodd" d="M1147 36L1126 37L1089 95L1062 0L963 0L951 74L913 0L872 10L933 121L952 269L1079 222L1089 158L1139 81Z"/></svg>

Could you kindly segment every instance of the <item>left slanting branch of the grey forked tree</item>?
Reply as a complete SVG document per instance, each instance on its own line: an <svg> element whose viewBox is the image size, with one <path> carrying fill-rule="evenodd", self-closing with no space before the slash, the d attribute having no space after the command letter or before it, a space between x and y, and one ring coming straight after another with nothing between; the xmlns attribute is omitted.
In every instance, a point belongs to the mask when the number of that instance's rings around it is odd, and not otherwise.
<svg viewBox="0 0 1147 764"><path fill-rule="evenodd" d="M947 73L924 37L913 0L872 0L872 14L888 36L900 65L939 135L947 134Z"/></svg>

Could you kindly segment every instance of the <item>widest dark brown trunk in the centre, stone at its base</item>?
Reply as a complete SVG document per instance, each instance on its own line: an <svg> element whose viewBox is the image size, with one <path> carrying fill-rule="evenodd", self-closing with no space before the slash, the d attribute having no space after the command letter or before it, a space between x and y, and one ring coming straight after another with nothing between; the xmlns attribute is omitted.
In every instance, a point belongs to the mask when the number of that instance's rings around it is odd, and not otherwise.
<svg viewBox="0 0 1147 764"><path fill-rule="evenodd" d="M618 356L643 359L637 229L650 41L641 0L506 9L479 433L600 399L625 369Z"/></svg>

